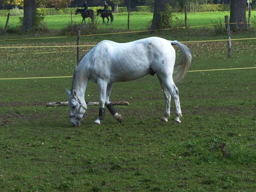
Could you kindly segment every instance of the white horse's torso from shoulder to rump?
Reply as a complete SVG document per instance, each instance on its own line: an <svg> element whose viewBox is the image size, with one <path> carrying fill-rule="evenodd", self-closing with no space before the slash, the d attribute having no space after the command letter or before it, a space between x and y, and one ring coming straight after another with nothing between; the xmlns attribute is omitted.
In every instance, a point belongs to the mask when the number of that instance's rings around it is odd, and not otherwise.
<svg viewBox="0 0 256 192"><path fill-rule="evenodd" d="M105 40L91 49L83 63L87 63L94 81L96 77L111 83L131 81L152 70L173 70L175 50L170 41L157 37L128 43Z"/></svg>

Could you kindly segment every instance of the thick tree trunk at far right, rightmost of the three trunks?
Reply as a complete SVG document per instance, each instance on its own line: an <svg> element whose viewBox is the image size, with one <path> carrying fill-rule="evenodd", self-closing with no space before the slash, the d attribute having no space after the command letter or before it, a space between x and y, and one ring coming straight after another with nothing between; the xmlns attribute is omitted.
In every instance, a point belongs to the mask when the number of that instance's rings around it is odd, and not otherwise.
<svg viewBox="0 0 256 192"><path fill-rule="evenodd" d="M246 24L246 0L231 0L230 26L233 29L244 29ZM232 24L234 23L234 24Z"/></svg>

